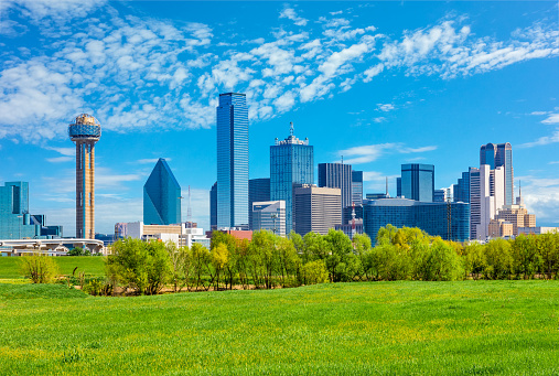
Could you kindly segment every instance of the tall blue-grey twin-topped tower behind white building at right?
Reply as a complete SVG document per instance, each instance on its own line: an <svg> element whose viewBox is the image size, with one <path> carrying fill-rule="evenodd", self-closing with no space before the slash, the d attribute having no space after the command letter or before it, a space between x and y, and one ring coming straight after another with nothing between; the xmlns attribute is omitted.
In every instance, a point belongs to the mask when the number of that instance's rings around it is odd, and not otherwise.
<svg viewBox="0 0 559 376"><path fill-rule="evenodd" d="M480 148L480 165L488 164L490 170L503 166L505 170L505 205L514 204L513 147L510 143L487 143Z"/></svg>

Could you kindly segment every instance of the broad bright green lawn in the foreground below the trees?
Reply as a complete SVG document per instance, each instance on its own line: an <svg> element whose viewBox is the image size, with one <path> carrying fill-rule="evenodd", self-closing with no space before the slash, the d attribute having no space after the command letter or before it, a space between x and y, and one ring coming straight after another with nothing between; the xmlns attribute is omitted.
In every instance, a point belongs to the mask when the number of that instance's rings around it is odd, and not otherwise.
<svg viewBox="0 0 559 376"><path fill-rule="evenodd" d="M1 375L557 375L557 281L137 298L0 284Z"/></svg>

